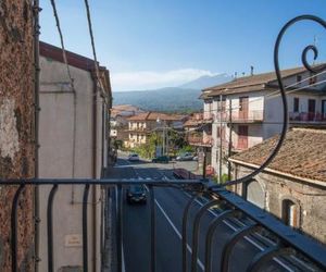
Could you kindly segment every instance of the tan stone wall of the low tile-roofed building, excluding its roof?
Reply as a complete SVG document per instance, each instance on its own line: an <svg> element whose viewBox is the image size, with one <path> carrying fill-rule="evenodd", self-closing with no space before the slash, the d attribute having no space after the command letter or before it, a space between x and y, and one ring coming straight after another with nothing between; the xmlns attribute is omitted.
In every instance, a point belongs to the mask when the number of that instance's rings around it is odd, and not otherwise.
<svg viewBox="0 0 326 272"><path fill-rule="evenodd" d="M235 176L241 177L252 170L246 166L235 166ZM308 235L326 243L326 186L317 186L299 178L289 178L272 173L260 173L255 176L264 195L264 207L266 211L279 219L283 214L284 200L296 203L298 212L297 228ZM243 196L246 185L237 185L235 190Z"/></svg>

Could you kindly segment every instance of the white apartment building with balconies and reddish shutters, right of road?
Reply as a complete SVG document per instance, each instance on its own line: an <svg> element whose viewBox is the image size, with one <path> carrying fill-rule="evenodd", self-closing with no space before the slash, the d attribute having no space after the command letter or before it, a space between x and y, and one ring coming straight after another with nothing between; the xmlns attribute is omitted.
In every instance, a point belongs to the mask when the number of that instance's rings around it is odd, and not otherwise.
<svg viewBox="0 0 326 272"><path fill-rule="evenodd" d="M326 125L326 74L304 67L281 71L290 126ZM278 134L281 98L275 72L243 76L206 88L203 120L211 124L211 162L217 175L229 173L227 158ZM210 129L206 129L210 133Z"/></svg>

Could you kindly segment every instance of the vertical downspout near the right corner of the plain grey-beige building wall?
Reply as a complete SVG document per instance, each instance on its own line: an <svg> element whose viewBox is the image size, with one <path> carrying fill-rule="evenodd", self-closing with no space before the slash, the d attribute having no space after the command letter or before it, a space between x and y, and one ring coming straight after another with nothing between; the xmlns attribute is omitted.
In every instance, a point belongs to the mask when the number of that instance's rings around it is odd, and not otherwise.
<svg viewBox="0 0 326 272"><path fill-rule="evenodd" d="M92 178L97 178L98 78L92 75ZM97 272L97 187L92 186L92 271Z"/></svg>

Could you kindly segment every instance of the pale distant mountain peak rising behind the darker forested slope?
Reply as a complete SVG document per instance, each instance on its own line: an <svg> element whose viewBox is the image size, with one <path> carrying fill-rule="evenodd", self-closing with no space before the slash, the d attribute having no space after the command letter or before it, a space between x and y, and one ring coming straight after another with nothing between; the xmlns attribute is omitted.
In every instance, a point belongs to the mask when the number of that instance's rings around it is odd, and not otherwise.
<svg viewBox="0 0 326 272"><path fill-rule="evenodd" d="M183 84L179 86L179 88L185 88L185 89L204 89L208 87L212 87L215 85L220 85L223 83L230 82L233 78L228 76L227 74L218 74L214 76L209 76L204 75L201 76L192 82Z"/></svg>

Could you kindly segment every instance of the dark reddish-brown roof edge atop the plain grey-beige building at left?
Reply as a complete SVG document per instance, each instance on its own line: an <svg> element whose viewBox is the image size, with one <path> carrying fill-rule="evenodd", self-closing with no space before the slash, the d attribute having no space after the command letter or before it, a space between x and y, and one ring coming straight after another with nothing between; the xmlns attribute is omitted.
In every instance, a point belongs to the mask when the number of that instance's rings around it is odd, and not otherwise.
<svg viewBox="0 0 326 272"><path fill-rule="evenodd" d="M39 53L42 57L50 58L52 60L59 61L64 63L62 49L50 44L40 41L39 42ZM95 61L88 59L84 55L71 52L65 50L67 63L72 66L86 70L86 71L93 71L95 70ZM100 67L105 70L105 67Z"/></svg>

